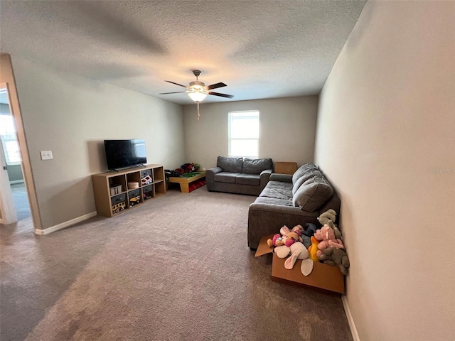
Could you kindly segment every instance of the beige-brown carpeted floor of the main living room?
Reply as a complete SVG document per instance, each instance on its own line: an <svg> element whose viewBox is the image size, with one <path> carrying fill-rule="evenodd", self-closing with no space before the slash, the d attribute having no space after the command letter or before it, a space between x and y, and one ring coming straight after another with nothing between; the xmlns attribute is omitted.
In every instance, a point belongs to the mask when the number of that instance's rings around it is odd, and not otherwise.
<svg viewBox="0 0 455 341"><path fill-rule="evenodd" d="M352 340L338 296L254 257L254 200L203 186L42 237L1 226L1 340Z"/></svg>

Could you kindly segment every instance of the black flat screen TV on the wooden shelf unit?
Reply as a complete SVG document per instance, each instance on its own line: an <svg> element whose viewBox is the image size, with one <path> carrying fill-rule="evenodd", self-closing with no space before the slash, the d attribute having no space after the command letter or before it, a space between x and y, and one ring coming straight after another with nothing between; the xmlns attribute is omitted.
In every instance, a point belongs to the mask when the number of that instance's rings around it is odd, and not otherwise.
<svg viewBox="0 0 455 341"><path fill-rule="evenodd" d="M144 140L105 140L109 170L147 163Z"/></svg>

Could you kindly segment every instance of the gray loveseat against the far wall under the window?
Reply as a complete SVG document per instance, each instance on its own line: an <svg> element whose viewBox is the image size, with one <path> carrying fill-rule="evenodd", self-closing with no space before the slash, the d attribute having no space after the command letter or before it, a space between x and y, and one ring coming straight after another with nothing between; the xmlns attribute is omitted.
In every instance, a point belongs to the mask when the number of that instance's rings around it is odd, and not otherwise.
<svg viewBox="0 0 455 341"><path fill-rule="evenodd" d="M215 168L205 171L210 192L259 195L269 182L271 158L226 158L218 156Z"/></svg>

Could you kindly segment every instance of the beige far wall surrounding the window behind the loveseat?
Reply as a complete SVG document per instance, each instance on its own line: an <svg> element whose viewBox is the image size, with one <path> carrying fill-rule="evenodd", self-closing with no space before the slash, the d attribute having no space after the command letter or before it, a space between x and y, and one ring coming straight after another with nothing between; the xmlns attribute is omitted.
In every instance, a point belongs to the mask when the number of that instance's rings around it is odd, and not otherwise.
<svg viewBox="0 0 455 341"><path fill-rule="evenodd" d="M259 158L313 162L318 97L287 97L253 101L196 104L183 107L186 162L216 166L228 156L228 113L259 110Z"/></svg>

